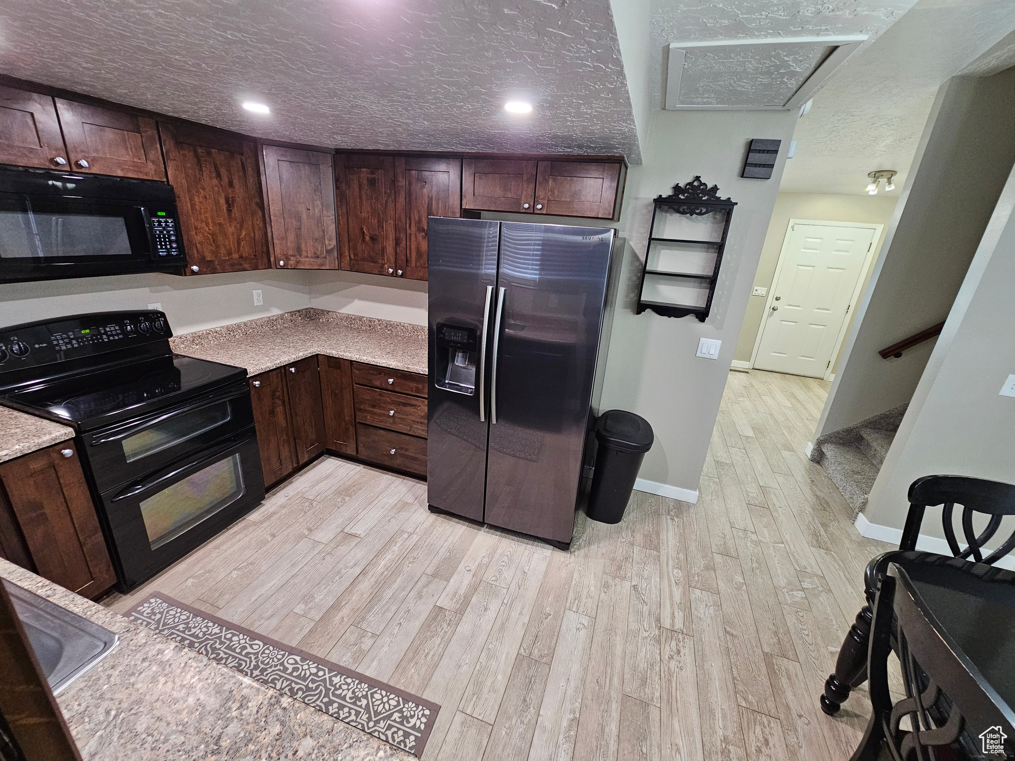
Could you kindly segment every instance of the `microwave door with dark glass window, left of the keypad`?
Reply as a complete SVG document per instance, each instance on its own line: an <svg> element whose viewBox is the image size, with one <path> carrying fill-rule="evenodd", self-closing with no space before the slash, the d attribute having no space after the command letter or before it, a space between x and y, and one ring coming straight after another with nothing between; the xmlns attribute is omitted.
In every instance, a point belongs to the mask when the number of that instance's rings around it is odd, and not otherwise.
<svg viewBox="0 0 1015 761"><path fill-rule="evenodd" d="M0 193L0 260L32 264L149 259L141 206Z"/></svg>

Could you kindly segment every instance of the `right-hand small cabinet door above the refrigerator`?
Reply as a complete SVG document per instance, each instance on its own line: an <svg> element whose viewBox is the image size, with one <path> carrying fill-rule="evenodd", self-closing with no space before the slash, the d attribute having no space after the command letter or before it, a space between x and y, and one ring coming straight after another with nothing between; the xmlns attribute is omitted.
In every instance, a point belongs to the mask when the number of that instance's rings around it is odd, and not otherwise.
<svg viewBox="0 0 1015 761"><path fill-rule="evenodd" d="M619 178L619 163L540 161L536 213L612 219Z"/></svg>

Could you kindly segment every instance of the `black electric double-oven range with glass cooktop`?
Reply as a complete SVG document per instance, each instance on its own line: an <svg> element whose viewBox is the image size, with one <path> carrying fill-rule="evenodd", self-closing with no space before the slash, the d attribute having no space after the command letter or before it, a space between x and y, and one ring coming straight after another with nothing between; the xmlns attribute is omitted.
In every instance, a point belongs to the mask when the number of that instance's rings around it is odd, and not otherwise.
<svg viewBox="0 0 1015 761"><path fill-rule="evenodd" d="M0 329L0 404L71 426L119 587L264 498L247 371L173 353L160 312Z"/></svg>

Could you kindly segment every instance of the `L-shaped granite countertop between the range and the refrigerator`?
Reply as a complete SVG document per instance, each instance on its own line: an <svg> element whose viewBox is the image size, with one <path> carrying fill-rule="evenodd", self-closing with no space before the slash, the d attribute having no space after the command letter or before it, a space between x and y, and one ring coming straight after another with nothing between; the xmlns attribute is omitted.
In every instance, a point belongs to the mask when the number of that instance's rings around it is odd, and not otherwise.
<svg viewBox="0 0 1015 761"><path fill-rule="evenodd" d="M187 333L178 354L246 367L248 375L326 354L426 373L426 327L314 307Z"/></svg>

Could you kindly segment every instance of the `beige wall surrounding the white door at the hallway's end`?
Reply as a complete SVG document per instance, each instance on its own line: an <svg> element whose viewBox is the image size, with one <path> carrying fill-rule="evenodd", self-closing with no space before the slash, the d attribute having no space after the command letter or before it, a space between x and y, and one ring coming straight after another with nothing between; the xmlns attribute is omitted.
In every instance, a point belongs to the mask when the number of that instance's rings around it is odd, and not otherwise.
<svg viewBox="0 0 1015 761"><path fill-rule="evenodd" d="M884 195L835 196L817 193L780 193L775 198L775 208L771 212L771 221L768 224L768 232L764 237L764 246L761 248L761 261L758 262L758 271L754 274L753 285L766 289L772 287L775 266L779 264L779 255L783 250L783 241L786 238L786 232L790 226L791 219L812 219L826 222L870 222L872 224L882 224L887 228L897 201L897 196ZM882 229L881 236L875 244L875 258L881 250L881 244L884 241L884 233L885 230ZM869 277L870 269L864 273L865 288ZM749 362L751 360L754 341L757 338L758 330L761 328L761 319L764 317L764 304L765 296L751 296L748 300L747 314L744 316L744 325L740 330L737 350L733 355L735 360L741 362ZM853 325L853 318L856 314L857 312L854 309L850 316L850 326ZM841 354L841 351L839 354ZM835 372L837 367L838 357L832 362L832 372Z"/></svg>

